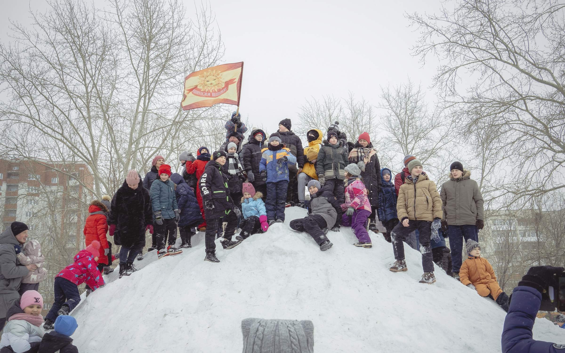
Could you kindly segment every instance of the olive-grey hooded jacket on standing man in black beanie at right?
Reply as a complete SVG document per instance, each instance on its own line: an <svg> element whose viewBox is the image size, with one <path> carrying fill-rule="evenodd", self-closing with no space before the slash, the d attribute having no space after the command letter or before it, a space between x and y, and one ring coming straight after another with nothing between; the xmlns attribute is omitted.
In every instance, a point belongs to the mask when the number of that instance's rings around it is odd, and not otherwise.
<svg viewBox="0 0 565 353"><path fill-rule="evenodd" d="M477 219L485 219L483 195L477 182L471 179L471 171L464 169L462 177L450 177L444 182L440 197L448 225L475 225Z"/></svg>

